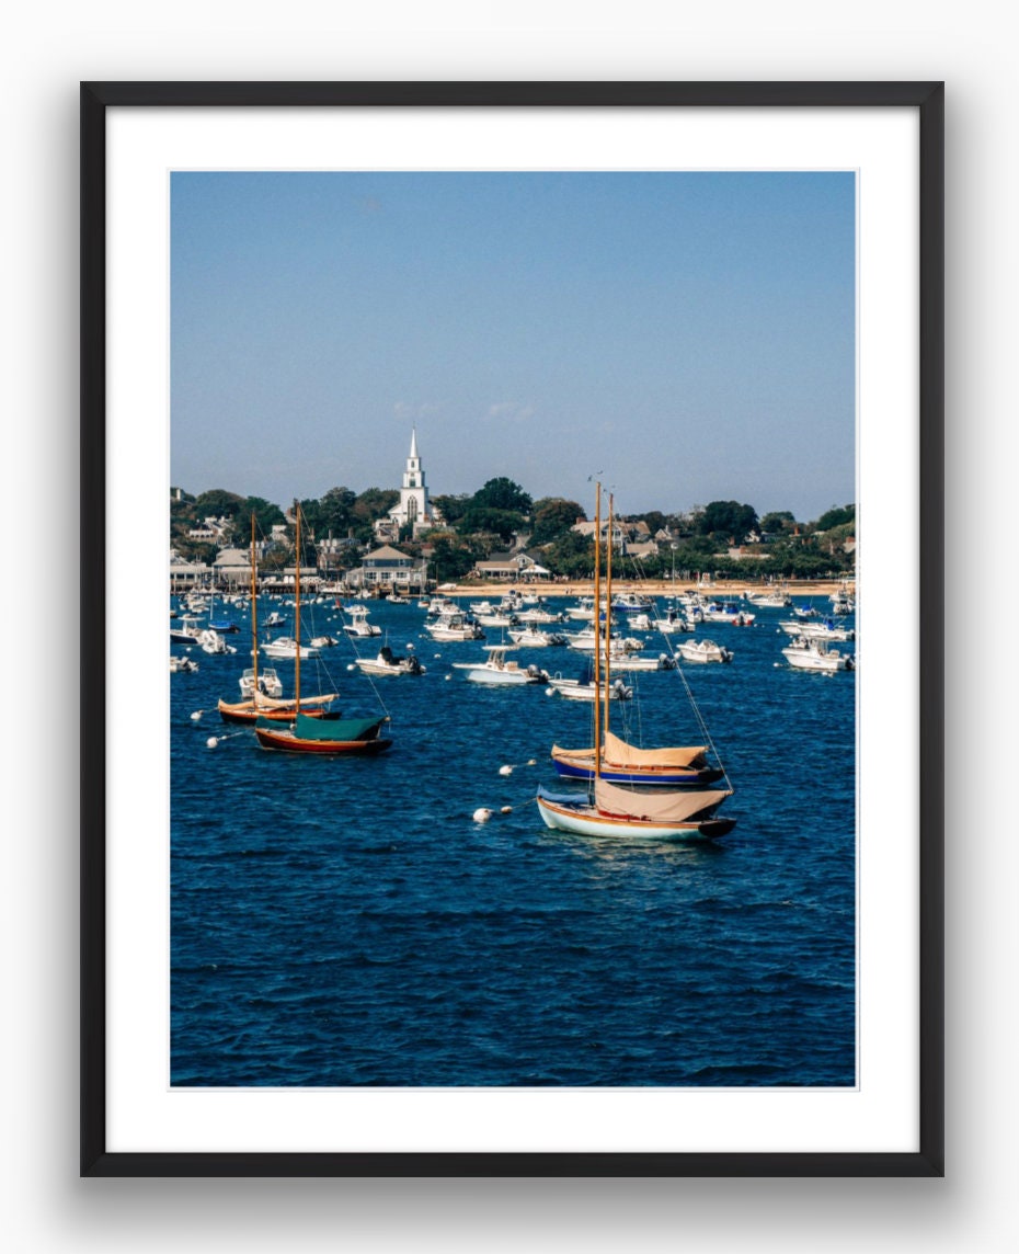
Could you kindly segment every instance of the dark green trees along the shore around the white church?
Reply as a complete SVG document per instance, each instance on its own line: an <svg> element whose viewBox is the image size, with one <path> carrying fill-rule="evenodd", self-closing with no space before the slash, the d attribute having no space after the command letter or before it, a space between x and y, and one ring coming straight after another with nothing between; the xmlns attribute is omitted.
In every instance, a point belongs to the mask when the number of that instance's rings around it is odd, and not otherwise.
<svg viewBox="0 0 1019 1254"><path fill-rule="evenodd" d="M371 544L374 523L386 517L400 499L395 489L368 488L355 493L350 488L331 488L318 499L301 502L306 522L303 561L315 561L315 545L330 537L351 539L347 556L337 562L357 564L357 547ZM429 556L434 577L440 582L462 578L475 562L489 558L525 540L526 548L540 553L541 566L553 574L585 578L594 569L594 542L573 530L584 520L584 508L565 497L534 500L518 483L505 477L489 479L475 493L432 498L437 512L436 527L419 537L401 534L401 547ZM204 518L226 518L228 534L219 543L244 545L251 514L262 537L286 522L283 510L259 497L242 497L224 489L212 489L198 497L183 494L170 503L170 540L188 558L212 561L216 545L188 538L188 532ZM755 576L818 577L850 571L854 557L845 542L856 534L856 507L832 507L811 522L797 520L790 510L758 517L752 505L736 500L713 500L683 513L648 510L628 514L625 524L645 524L640 533L654 539L657 552L630 556L630 566L648 578L698 576L704 572ZM292 556L292 528L281 547L278 561ZM287 548L288 545L288 548ZM305 547L305 545L302 545ZM741 549L729 556L731 549ZM625 562L627 554L624 554ZM266 557L273 564L273 554ZM625 571L624 564L624 573ZM629 573L634 573L630 571Z"/></svg>

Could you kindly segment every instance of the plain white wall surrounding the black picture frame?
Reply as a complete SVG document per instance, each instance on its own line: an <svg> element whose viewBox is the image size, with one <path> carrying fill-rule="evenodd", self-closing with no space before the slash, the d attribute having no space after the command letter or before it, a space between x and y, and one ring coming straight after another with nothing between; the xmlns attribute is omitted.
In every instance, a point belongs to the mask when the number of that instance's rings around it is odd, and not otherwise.
<svg viewBox="0 0 1019 1254"><path fill-rule="evenodd" d="M313 1183L76 1179L75 588L11 606L6 668L0 1231L14 1250L874 1250L1011 1248L1016 820L1003 562L1014 446L1016 105L1009 10L975 0L342 0L9 6L3 63L5 507L74 534L79 79L945 79L949 789L946 1181ZM28 473L26 473L28 472ZM13 489L13 494L11 494ZM9 554L10 556L10 554ZM970 611L969 607L974 606ZM25 676L25 678L20 677ZM45 696L48 700L39 701ZM29 696L36 700L29 701ZM1014 735L1010 737L1014 744ZM25 749L26 745L31 747ZM1009 744L1009 747L1011 745ZM16 754L16 757L15 757ZM889 745L895 756L895 746ZM993 785L985 803L963 785ZM889 833L895 839L895 833Z"/></svg>

